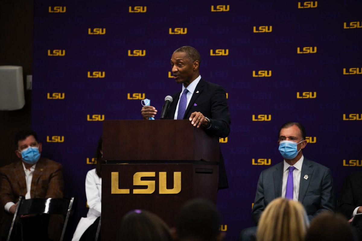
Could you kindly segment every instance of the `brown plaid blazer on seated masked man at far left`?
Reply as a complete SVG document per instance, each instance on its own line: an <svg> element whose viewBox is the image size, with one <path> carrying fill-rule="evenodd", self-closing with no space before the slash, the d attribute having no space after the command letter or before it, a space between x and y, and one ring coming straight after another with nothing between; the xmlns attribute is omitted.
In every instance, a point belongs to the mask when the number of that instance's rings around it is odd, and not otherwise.
<svg viewBox="0 0 362 241"><path fill-rule="evenodd" d="M40 158L31 179L31 198L63 198L64 181L62 164L46 158ZM0 168L0 205L4 208L8 202L17 203L19 196L26 195L26 180L21 160ZM1 220L1 233L4 224L12 219L12 214L5 212ZM61 230L61 218L52 216L49 221L49 237L57 239ZM57 223L58 222L58 223Z"/></svg>

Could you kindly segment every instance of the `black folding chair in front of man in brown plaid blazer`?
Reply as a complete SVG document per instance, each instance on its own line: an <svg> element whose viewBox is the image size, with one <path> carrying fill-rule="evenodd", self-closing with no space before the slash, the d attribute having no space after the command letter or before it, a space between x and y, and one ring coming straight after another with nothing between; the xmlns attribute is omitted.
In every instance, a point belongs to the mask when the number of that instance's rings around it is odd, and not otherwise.
<svg viewBox="0 0 362 241"><path fill-rule="evenodd" d="M14 224L19 221L21 215L28 214L60 214L65 216L60 241L63 241L67 224L75 209L75 198L31 198L19 197L13 221L10 225L7 241L10 241Z"/></svg>

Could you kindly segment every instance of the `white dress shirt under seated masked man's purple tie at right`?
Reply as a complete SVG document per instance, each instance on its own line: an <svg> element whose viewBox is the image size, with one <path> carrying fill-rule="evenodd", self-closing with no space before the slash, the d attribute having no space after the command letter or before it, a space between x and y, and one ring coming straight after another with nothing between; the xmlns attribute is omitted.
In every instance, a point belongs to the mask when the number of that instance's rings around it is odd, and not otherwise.
<svg viewBox="0 0 362 241"><path fill-rule="evenodd" d="M303 165L304 156L299 159L298 162L294 164L294 171L293 171L293 200L298 201L299 197L299 184L300 184L300 173L302 172L302 165ZM284 160L284 168L283 168L283 184L282 184L282 197L285 198L285 191L287 189L287 180L288 180L288 173L289 173L289 165Z"/></svg>

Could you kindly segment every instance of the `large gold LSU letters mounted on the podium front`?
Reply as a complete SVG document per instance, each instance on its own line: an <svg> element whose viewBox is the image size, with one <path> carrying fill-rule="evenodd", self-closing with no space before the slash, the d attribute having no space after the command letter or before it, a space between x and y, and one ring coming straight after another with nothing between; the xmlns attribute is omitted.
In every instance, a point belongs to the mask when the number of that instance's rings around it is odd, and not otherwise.
<svg viewBox="0 0 362 241"><path fill-rule="evenodd" d="M181 172L173 172L173 188L167 189L167 173L159 172L159 194L177 194L181 191ZM119 189L118 172L111 172L111 194L130 194L130 189ZM136 172L133 175L134 186L147 186L147 189L133 189L133 194L151 194L155 192L153 180L141 180L142 177L156 177L156 172Z"/></svg>

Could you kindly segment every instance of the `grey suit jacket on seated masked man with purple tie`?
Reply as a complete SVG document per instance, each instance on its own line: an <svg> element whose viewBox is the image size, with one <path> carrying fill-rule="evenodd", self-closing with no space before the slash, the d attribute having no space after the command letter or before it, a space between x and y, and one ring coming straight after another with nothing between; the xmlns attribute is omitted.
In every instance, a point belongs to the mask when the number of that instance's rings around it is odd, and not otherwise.
<svg viewBox="0 0 362 241"><path fill-rule="evenodd" d="M282 196L283 166L284 162L278 163L260 174L252 211L255 224L265 207L275 198ZM305 175L308 175L308 179L304 179ZM336 207L334 200L331 170L304 158L298 201L306 209L308 218L311 220L324 211L333 212Z"/></svg>

